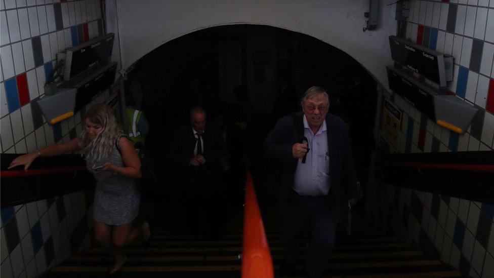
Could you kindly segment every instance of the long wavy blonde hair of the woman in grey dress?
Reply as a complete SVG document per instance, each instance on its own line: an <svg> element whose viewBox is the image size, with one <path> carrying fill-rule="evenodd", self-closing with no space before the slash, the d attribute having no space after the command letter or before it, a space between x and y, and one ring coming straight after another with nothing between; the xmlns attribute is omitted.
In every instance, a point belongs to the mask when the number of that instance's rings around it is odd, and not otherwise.
<svg viewBox="0 0 494 278"><path fill-rule="evenodd" d="M117 137L121 134L118 130L115 116L105 104L96 104L86 111L86 118L91 123L101 125L102 130L96 137L89 139L86 129L79 136L79 148L81 154L90 155L95 162L102 162L108 158L110 151L115 148Z"/></svg>

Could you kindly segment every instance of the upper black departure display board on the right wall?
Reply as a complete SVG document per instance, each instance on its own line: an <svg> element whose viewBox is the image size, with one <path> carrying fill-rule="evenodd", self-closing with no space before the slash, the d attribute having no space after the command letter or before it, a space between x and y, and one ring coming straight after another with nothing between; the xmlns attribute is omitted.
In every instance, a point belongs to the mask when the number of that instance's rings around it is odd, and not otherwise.
<svg viewBox="0 0 494 278"><path fill-rule="evenodd" d="M389 36L389 46L391 58L394 61L425 76L441 87L446 86L444 57L441 53L425 49L420 45L396 36ZM440 66L442 66L442 69Z"/></svg>

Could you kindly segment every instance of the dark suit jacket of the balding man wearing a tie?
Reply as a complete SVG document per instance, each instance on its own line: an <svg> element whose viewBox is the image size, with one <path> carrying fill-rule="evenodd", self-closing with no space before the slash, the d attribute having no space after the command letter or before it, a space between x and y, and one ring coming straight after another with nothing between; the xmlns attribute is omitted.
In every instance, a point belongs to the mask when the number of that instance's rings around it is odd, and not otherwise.
<svg viewBox="0 0 494 278"><path fill-rule="evenodd" d="M214 125L207 125L202 136L204 144L205 167L219 165L219 160L226 154L226 146L220 131ZM173 166L179 169L189 168L190 158L194 156L197 139L192 133L192 125L181 126L173 135L168 149L168 156Z"/></svg>

